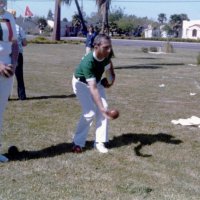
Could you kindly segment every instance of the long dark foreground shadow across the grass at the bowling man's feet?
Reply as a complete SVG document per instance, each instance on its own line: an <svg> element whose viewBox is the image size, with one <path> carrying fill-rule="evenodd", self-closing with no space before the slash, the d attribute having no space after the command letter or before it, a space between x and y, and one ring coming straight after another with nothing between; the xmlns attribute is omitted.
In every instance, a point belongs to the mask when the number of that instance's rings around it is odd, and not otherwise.
<svg viewBox="0 0 200 200"><path fill-rule="evenodd" d="M163 142L175 145L182 143L181 140L177 140L174 138L174 136L165 133L158 133L154 135L144 133L126 133L121 136L114 137L112 140L110 140L108 147L118 148L132 143L139 143L134 148L135 154L141 157L150 157L152 155L142 154L140 151L145 145L152 145L156 142ZM93 141L87 141L86 147L86 150L93 149ZM8 153L5 154L5 156L8 157L10 161L23 161L30 159L54 157L64 153L71 153L71 149L72 143L61 143L38 151L19 151L16 146L12 146L9 148Z"/></svg>

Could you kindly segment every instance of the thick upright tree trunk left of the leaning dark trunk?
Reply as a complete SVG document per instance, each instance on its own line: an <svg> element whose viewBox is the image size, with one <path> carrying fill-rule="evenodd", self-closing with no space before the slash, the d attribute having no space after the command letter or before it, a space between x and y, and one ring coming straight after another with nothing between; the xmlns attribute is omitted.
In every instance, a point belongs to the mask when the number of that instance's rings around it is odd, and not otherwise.
<svg viewBox="0 0 200 200"><path fill-rule="evenodd" d="M52 40L60 40L60 11L60 0L56 0Z"/></svg>

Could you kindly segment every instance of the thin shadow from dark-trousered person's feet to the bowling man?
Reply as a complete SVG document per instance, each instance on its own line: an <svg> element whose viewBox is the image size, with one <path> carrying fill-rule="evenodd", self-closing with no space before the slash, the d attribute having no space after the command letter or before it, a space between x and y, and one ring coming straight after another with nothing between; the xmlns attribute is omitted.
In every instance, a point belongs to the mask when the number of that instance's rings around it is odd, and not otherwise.
<svg viewBox="0 0 200 200"><path fill-rule="evenodd" d="M65 98L74 98L76 97L75 94L70 95L49 95L49 96L38 96L38 97L27 97L26 100L42 100L42 99L65 99ZM18 101L18 98L9 99L9 101Z"/></svg>

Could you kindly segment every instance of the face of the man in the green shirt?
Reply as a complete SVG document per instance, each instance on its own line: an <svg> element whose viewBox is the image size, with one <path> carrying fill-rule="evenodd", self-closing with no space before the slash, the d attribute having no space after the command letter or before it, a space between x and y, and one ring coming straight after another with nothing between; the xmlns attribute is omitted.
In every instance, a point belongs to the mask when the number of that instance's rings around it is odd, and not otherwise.
<svg viewBox="0 0 200 200"><path fill-rule="evenodd" d="M112 49L111 41L103 39L101 44L97 47L98 54L101 58L109 56Z"/></svg>

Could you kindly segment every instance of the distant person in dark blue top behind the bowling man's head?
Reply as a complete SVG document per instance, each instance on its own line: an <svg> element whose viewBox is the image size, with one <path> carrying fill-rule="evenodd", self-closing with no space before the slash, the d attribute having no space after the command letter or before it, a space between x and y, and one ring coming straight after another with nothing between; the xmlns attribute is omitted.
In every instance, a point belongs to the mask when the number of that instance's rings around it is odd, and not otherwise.
<svg viewBox="0 0 200 200"><path fill-rule="evenodd" d="M94 30L94 27L92 25L90 25L88 27L88 33L87 33L87 37L86 37L86 54L90 53L90 51L92 51L94 45L94 38L97 36L97 31Z"/></svg>

